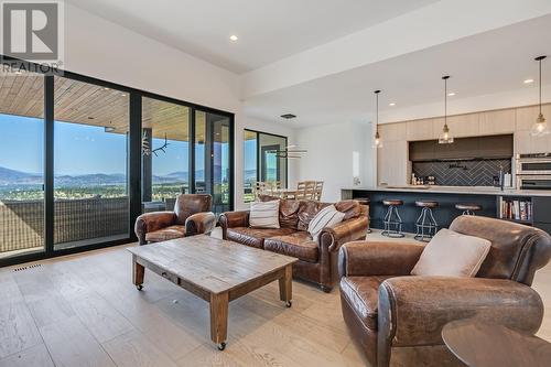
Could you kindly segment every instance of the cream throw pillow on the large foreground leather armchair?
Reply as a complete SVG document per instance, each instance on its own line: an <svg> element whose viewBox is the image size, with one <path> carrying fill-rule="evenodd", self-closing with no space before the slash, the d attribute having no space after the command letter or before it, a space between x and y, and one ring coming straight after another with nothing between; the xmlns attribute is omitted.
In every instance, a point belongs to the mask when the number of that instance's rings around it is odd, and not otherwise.
<svg viewBox="0 0 551 367"><path fill-rule="evenodd" d="M487 239L441 229L424 248L411 274L474 277L490 247Z"/></svg>

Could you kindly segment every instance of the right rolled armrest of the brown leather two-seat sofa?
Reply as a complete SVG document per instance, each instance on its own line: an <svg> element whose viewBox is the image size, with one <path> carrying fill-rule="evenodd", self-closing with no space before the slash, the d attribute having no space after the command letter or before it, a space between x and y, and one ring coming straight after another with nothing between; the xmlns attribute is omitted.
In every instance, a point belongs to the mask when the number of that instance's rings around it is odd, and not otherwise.
<svg viewBox="0 0 551 367"><path fill-rule="evenodd" d="M364 239L367 235L369 220L367 216L359 216L334 226L325 227L320 234L323 244L328 244L329 251L338 251L338 248L348 241Z"/></svg>

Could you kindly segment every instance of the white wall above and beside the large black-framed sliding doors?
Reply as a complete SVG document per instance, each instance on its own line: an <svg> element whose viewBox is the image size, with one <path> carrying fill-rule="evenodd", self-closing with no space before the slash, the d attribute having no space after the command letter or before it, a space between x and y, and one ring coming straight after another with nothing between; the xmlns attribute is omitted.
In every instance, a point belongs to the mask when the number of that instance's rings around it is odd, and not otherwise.
<svg viewBox="0 0 551 367"><path fill-rule="evenodd" d="M294 143L293 129L245 117L238 75L68 3L65 21L65 69L236 114L236 208L246 207L242 203L242 130L287 136L289 143ZM289 183L293 185L295 170L290 163Z"/></svg>

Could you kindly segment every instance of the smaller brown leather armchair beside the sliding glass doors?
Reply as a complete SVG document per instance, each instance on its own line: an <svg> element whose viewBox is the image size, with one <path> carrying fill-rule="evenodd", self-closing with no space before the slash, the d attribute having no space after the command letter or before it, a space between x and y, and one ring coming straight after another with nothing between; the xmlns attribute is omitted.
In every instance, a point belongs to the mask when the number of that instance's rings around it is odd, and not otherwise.
<svg viewBox="0 0 551 367"><path fill-rule="evenodd" d="M140 245L209 234L216 225L212 201L207 194L182 194L176 198L174 212L140 215L134 226Z"/></svg>

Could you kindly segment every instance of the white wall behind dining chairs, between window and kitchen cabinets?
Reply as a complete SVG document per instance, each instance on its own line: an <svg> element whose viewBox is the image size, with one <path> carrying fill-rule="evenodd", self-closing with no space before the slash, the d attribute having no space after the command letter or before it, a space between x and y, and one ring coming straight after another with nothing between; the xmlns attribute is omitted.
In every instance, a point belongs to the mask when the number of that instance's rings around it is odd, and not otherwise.
<svg viewBox="0 0 551 367"><path fill-rule="evenodd" d="M372 127L369 123L338 122L296 131L296 142L306 149L306 155L299 161L298 180L324 182L324 202L341 199L341 190L354 186L353 156L359 158L358 176L360 185L375 183Z"/></svg>

